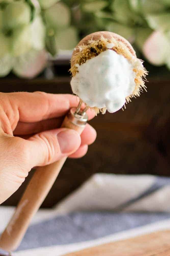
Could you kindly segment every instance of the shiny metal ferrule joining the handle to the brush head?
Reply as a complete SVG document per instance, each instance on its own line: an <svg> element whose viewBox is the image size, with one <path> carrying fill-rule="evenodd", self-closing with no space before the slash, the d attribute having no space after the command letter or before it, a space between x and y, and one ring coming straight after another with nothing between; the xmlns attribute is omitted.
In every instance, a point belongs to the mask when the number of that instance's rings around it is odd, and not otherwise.
<svg viewBox="0 0 170 256"><path fill-rule="evenodd" d="M88 121L88 115L86 113L83 113L83 111L79 111L78 113L76 111L76 108L71 108L67 115L67 118L70 120L71 123L75 125L85 126Z"/></svg>

